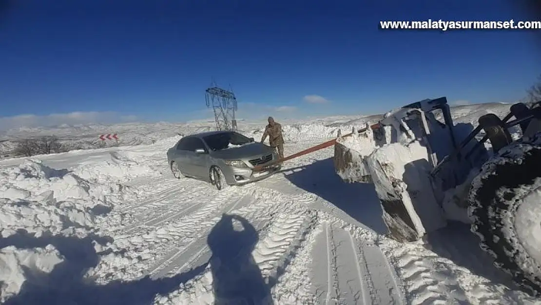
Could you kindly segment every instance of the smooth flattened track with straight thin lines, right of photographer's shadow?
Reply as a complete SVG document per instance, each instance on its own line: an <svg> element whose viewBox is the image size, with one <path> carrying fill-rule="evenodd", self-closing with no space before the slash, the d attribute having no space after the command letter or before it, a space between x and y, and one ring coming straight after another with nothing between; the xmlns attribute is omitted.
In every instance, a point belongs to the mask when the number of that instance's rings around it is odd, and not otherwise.
<svg viewBox="0 0 541 305"><path fill-rule="evenodd" d="M314 238L312 282L321 304L404 304L401 284L378 245L362 228L322 213Z"/></svg>

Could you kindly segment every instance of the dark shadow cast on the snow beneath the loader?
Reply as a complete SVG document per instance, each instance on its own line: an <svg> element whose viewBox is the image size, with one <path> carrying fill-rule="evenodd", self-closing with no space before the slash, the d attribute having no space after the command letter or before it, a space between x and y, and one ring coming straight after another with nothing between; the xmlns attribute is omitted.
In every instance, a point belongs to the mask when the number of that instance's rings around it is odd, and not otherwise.
<svg viewBox="0 0 541 305"><path fill-rule="evenodd" d="M418 167L408 165L405 167L408 172ZM332 158L306 166L284 168L281 172L294 185L327 200L359 223L378 233L387 233L374 186L343 182L334 171ZM405 178L410 176L410 173L405 174ZM493 258L480 249L479 239L470 231L469 224L448 222L445 228L427 235L426 247L493 283L503 284L507 289L518 289L509 275L494 267Z"/></svg>

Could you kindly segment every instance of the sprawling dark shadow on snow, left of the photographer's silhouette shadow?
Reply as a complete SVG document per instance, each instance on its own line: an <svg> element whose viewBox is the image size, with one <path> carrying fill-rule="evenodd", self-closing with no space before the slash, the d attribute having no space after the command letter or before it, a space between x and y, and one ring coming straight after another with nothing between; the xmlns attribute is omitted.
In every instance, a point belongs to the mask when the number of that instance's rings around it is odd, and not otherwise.
<svg viewBox="0 0 541 305"><path fill-rule="evenodd" d="M64 261L56 265L50 274L24 268L27 281L22 285L20 293L4 304L150 304L156 294L167 295L206 267L205 264L186 273L157 280L147 276L136 281L113 281L97 285L83 278L84 272L95 267L99 261L100 254L94 250L93 241L105 244L111 239L100 236L33 237L24 231L0 239L0 248L12 245L18 249L31 249L52 244L64 256Z"/></svg>

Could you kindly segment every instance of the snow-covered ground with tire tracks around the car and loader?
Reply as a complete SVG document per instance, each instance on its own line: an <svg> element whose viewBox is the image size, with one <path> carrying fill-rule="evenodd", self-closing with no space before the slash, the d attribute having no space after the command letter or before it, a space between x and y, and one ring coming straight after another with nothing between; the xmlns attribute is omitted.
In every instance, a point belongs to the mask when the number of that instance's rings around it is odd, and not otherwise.
<svg viewBox="0 0 541 305"><path fill-rule="evenodd" d="M475 122L508 107L453 112ZM286 155L360 121L284 124ZM257 139L257 127L242 128ZM541 303L492 266L467 225L452 223L427 243L385 237L373 186L342 183L332 147L217 191L173 178L166 151L180 136L169 135L0 161L0 302Z"/></svg>

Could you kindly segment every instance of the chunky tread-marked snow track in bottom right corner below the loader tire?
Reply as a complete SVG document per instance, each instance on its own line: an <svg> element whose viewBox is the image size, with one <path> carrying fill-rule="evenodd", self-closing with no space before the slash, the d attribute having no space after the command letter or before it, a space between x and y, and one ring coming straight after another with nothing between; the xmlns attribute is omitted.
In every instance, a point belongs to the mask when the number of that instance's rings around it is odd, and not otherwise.
<svg viewBox="0 0 541 305"><path fill-rule="evenodd" d="M443 236L442 236L443 237ZM394 256L397 273L403 277L405 288L408 291L408 301L411 304L529 304L538 305L538 298L531 297L520 290L514 290L503 281L494 281L497 276L472 270L460 264L464 259L471 259L469 264L481 264L479 257L469 257L471 254L461 252L454 248L453 241L447 236L446 250L451 259L440 256L441 248L437 252L428 250L423 244L387 244L388 252ZM431 246L438 246L434 242ZM441 243L444 243L443 241ZM440 245L441 246L441 245ZM465 249L467 250L467 249ZM458 257L458 259L457 259ZM483 266L480 266L482 268ZM488 270L487 270L488 271Z"/></svg>

